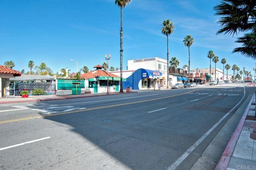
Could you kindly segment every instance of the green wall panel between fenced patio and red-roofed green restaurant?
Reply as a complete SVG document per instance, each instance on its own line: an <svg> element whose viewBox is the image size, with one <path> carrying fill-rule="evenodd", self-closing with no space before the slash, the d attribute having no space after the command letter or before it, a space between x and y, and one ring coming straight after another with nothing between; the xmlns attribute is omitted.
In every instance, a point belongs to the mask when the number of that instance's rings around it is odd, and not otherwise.
<svg viewBox="0 0 256 170"><path fill-rule="evenodd" d="M57 79L58 90L72 90L72 95L82 94L81 89L84 89L84 80L74 79Z"/></svg>

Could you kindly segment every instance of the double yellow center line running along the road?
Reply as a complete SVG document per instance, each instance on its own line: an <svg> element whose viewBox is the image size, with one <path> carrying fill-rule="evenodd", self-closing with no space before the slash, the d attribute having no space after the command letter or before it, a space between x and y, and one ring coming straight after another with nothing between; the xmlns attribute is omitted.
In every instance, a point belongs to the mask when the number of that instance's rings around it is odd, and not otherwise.
<svg viewBox="0 0 256 170"><path fill-rule="evenodd" d="M196 89L198 90L198 89ZM193 91L196 90L192 90L186 93L182 93L182 94L178 94L178 95L171 95L171 96L166 96L166 97L159 97L159 98L155 98L155 99L148 99L148 100L143 100L143 101L134 101L134 102L129 102L129 103L120 103L120 104L116 104L116 105L108 105L108 106L102 106L102 107L94 107L94 108L89 108L89 109L81 109L81 110L76 110L76 111L70 111L70 112L62 112L62 113L55 113L52 115L42 115L42 116L35 116L35 117L26 117L26 118L22 118L22 119L13 119L13 120L8 120L8 121L1 121L0 124L3 123L10 123L10 122L17 122L17 121L26 121L26 120L30 120L30 119L37 119L37 118L44 118L44 117L50 117L50 116L56 116L56 115L65 115L65 114L71 114L71 113L77 113L77 112L82 112L82 111L92 111L92 110L97 110L97 109L105 109L105 108L110 108L110 107L118 107L118 106L124 106L124 105L132 105L132 104L136 104L136 103L143 103L143 102L147 102L147 101L154 101L154 100L160 100L160 99L167 99L170 97L176 97L176 96L180 96L180 95L186 95L189 94Z"/></svg>

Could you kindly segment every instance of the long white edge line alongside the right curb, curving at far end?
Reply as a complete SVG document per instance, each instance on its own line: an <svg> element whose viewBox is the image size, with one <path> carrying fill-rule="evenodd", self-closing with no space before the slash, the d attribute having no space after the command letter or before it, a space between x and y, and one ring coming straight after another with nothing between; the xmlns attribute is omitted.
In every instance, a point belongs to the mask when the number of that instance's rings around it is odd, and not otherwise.
<svg viewBox="0 0 256 170"><path fill-rule="evenodd" d="M245 96L245 87L244 87L244 96ZM182 154L182 156L180 156L180 158L178 158L171 166L169 166L166 170L175 170L180 164L181 162L183 162L186 157L188 157L188 155L191 154L191 152L234 110L236 109L236 107L242 102L242 100L244 99L244 96L242 97L242 99L226 114L224 115L224 117L222 117L212 128L210 128L210 130L208 130L201 138L199 138L192 146L190 146L190 148L188 148L188 150L186 150L186 152L184 152Z"/></svg>

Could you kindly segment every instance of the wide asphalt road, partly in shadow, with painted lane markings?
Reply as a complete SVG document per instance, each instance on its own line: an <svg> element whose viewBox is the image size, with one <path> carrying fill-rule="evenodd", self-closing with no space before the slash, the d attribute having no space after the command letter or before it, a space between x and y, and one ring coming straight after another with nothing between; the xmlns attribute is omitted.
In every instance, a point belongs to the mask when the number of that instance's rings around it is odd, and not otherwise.
<svg viewBox="0 0 256 170"><path fill-rule="evenodd" d="M189 170L253 93L233 84L0 105L0 169Z"/></svg>

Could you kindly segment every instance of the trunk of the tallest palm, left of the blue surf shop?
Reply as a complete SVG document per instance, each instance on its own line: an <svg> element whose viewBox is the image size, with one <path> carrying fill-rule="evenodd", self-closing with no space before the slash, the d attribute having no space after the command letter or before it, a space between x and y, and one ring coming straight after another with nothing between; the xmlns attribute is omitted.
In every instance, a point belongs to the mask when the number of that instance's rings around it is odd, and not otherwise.
<svg viewBox="0 0 256 170"><path fill-rule="evenodd" d="M120 28L120 91L123 91L123 8L121 7L121 28Z"/></svg>

